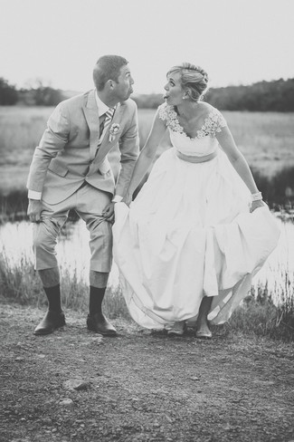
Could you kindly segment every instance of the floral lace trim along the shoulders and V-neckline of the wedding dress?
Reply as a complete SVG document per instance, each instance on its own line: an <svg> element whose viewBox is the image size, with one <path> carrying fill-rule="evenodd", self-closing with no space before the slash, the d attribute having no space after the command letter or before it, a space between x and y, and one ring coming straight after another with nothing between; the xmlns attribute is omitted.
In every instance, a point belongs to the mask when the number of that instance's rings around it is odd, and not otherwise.
<svg viewBox="0 0 294 442"><path fill-rule="evenodd" d="M191 139L185 130L180 125L177 120L177 113L175 112L174 106L169 106L166 103L161 104L158 107L160 120L166 121L166 126L173 130L173 132L179 132L185 135L185 137ZM197 130L197 135L194 138L202 139L207 135L215 137L216 132L221 132L222 128L227 125L223 118L223 115L217 109L213 109L204 120L204 125L200 130Z"/></svg>

